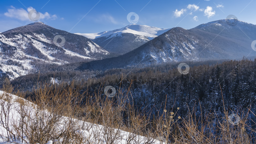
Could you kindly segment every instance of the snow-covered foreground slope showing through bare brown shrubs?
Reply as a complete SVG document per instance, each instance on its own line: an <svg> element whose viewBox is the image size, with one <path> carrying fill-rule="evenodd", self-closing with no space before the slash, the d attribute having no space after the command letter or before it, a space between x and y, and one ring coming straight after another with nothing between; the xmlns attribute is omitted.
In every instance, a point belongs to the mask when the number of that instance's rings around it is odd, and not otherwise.
<svg viewBox="0 0 256 144"><path fill-rule="evenodd" d="M7 94L7 96L3 96ZM29 113L31 114L30 117L32 118L38 118L39 115L35 116L33 114L35 114L36 112L39 113L44 113L45 115L48 115L48 117L52 117L51 114L47 111L47 110L37 110L37 105L28 102L25 99L22 99L16 95L12 95L12 94L8 94L5 93L3 91L0 91L0 95L1 99L0 99L0 110L1 110L1 117L2 120L5 120L3 122L0 123L0 144L6 144L6 143L22 143L21 142L21 138L18 138L18 132L15 131L15 125L17 126L21 120L21 101L24 101L26 103L26 112L29 111ZM8 99L11 100L8 100ZM9 111L8 108L9 107ZM9 114L8 116L4 116L3 112L7 112L7 114ZM8 118L8 119L5 119ZM41 117L40 117L41 118ZM48 118L46 118L47 120ZM71 118L72 119L72 118ZM6 121L7 120L7 121ZM127 140L129 137L133 137L134 141L140 141L139 144L144 144L146 143L147 139L146 137L143 136L139 136L139 135L134 135L132 133L129 132L125 132L123 130L120 129L113 129L113 128L106 128L102 125L97 125L94 123L88 123L88 122L84 122L84 121L80 121L77 119L72 119L73 122L75 122L75 133L81 137L81 139L84 140L88 140L91 143L100 143L100 144L105 144L106 143L106 134L109 132L109 129L112 129L111 132L114 132L113 134L116 134L117 136L115 137L116 139L114 140L115 144L127 144ZM54 127L56 128L56 133L61 133L63 130L65 130L65 127L67 126L67 123L70 121L69 117L62 117L62 119L60 120L60 122L58 123L58 125L55 125ZM8 131L4 128L6 127L6 124L9 123L9 130L16 135L16 140L14 140L14 137L12 137L12 139L7 142L7 137L8 137ZM28 124L29 125L29 124ZM24 128L25 129L25 128ZM10 136L9 136L10 137ZM113 137L113 135L111 135L108 138ZM17 140L18 139L18 140ZM62 142L63 138L59 137L56 140L49 140L47 142L47 144L52 144L52 141L55 141L55 143L60 143ZM29 140L27 139L27 136L24 135L23 136L23 143L26 143L25 141L27 141L27 143L29 143ZM160 144L160 141L156 141L154 139L152 139L151 141L153 141L153 144ZM131 142L132 143L132 142ZM138 142L137 142L138 143Z"/></svg>

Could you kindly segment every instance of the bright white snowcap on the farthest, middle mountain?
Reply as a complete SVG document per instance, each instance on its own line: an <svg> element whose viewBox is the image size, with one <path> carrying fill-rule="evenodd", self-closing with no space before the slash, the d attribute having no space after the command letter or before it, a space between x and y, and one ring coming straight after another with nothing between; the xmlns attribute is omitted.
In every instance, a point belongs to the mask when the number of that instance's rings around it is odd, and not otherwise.
<svg viewBox="0 0 256 144"><path fill-rule="evenodd" d="M112 31L105 31L101 33L75 33L78 35L85 36L89 39L96 39L100 37L109 36L113 37L116 36L116 34L120 35L121 33L132 33L136 35L141 35L147 37L149 40L154 39L155 37L159 36L160 34L167 32L170 29L165 28L158 28L158 27L150 27L146 25L128 25L126 27L115 29Z"/></svg>

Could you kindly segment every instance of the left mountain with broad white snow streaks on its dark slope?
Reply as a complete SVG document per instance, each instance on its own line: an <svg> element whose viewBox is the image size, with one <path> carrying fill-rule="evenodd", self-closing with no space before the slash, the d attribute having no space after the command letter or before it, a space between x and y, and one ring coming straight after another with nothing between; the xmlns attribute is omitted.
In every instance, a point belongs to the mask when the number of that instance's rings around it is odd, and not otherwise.
<svg viewBox="0 0 256 144"><path fill-rule="evenodd" d="M64 37L53 42L55 36ZM9 77L34 73L42 64L65 64L108 57L109 53L90 39L58 30L42 22L17 27L0 34L0 72Z"/></svg>

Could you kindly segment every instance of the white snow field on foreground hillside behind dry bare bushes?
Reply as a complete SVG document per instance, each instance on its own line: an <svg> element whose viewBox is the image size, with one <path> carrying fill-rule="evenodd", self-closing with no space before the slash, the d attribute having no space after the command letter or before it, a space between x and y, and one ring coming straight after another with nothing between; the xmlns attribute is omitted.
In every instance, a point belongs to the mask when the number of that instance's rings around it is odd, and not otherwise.
<svg viewBox="0 0 256 144"><path fill-rule="evenodd" d="M42 124L45 122L52 120L52 117L54 117L50 111L44 109L39 110L38 106L27 101L26 99L22 99L16 95L9 94L3 91L0 91L0 144L4 143L22 143L21 137L19 137L19 133L21 134L21 131L17 130L17 127L21 126L20 122L22 119L21 113L22 110L26 110L26 114L29 114L29 119L27 117L23 117L24 121L28 120L27 122L40 122L43 121ZM25 104L25 106L21 109L21 103ZM4 115L7 114L6 116ZM33 121L35 120L35 121ZM113 139L113 143L115 144L126 144L127 141L133 137L133 142L131 143L140 143L144 144L147 141L149 141L149 138L136 135L133 133L125 132L120 129L114 129L114 128L108 128L106 126L97 125L94 123L88 123L81 120L77 120L70 117L64 117L61 116L59 121L52 125L54 133L59 135L60 133L63 133L67 128L68 124L73 124L72 128L74 133L77 136L77 139L82 140L81 143L100 143L100 144L106 144L106 140L109 141L109 139ZM38 124L38 127L41 123ZM31 125L27 124L27 126L35 126L35 124L31 123ZM6 129L8 128L9 131ZM46 127L43 127L46 128ZM25 129L25 128L24 128ZM23 129L23 130L24 130ZM39 128L38 128L39 129ZM37 131L38 132L38 131ZM13 135L10 136L9 134L12 133ZM25 132L24 132L25 133ZM15 137L14 137L15 135ZM29 143L28 136L25 134L23 135L23 143ZM8 142L9 138L9 142ZM61 143L64 140L63 137L59 137L58 139L52 139L47 140L47 144L52 144L53 141L55 143ZM76 141L72 140L71 141ZM139 141L139 142L138 142ZM160 141L156 141L154 139L150 139L153 144L160 144ZM71 142L72 143L72 142Z"/></svg>

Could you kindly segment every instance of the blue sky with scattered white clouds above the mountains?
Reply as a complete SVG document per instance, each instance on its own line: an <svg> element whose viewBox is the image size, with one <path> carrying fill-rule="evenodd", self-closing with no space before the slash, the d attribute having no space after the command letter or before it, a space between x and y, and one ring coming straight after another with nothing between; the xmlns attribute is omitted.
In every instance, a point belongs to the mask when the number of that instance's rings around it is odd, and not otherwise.
<svg viewBox="0 0 256 144"><path fill-rule="evenodd" d="M231 14L256 24L256 0L2 0L0 3L0 32L33 23L27 16L33 9L40 13L39 21L70 33L97 33L124 27L131 24L127 20L130 12L139 16L137 24L160 28L190 29Z"/></svg>

